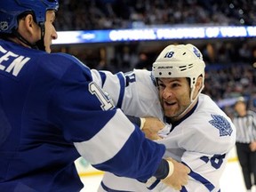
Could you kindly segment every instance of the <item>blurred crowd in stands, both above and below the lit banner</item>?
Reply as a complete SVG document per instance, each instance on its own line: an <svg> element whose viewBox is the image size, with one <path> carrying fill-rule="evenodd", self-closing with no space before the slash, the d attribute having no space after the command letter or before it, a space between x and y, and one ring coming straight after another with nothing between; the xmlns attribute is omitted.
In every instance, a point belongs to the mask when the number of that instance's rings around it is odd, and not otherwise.
<svg viewBox="0 0 256 192"><path fill-rule="evenodd" d="M256 26L256 0L60 0L57 31L164 26ZM243 96L256 110L256 39L194 39L55 45L90 68L112 72L150 69L167 44L195 44L204 55L204 92L229 116Z"/></svg>

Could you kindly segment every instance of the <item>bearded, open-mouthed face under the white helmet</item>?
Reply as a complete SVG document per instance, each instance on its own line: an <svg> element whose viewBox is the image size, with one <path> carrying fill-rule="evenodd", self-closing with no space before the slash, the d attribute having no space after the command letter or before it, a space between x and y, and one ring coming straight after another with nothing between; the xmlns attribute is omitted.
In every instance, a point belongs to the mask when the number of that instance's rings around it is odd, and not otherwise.
<svg viewBox="0 0 256 192"><path fill-rule="evenodd" d="M179 120L180 114L190 104L190 87L184 78L159 78L159 99L164 109L164 115L173 121Z"/></svg>

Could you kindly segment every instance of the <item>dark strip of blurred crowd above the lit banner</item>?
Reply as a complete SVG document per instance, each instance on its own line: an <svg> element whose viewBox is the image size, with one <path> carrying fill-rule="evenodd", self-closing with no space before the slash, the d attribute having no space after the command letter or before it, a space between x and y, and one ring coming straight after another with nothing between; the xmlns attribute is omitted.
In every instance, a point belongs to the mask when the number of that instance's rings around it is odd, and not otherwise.
<svg viewBox="0 0 256 192"><path fill-rule="evenodd" d="M255 25L255 0L60 0L60 30L155 25Z"/></svg>

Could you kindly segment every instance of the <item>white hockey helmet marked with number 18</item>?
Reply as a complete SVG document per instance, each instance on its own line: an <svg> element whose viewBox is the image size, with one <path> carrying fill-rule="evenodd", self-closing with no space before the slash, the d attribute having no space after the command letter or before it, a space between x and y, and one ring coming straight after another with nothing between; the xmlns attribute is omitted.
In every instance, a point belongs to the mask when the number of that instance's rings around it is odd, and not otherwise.
<svg viewBox="0 0 256 192"><path fill-rule="evenodd" d="M191 101L195 90L196 79L203 76L204 88L205 63L202 53L193 44L168 45L153 63L152 72L155 78L188 77L190 79ZM198 94L199 94L198 93ZM195 99L196 100L196 99Z"/></svg>

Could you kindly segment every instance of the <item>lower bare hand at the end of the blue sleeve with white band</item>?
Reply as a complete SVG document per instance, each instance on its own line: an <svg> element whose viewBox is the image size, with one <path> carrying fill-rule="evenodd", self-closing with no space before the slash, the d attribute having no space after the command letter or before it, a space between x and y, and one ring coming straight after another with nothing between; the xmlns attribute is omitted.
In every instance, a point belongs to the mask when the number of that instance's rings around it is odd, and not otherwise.
<svg viewBox="0 0 256 192"><path fill-rule="evenodd" d="M172 158L166 159L169 163L169 174L161 180L165 185L168 185L176 190L181 190L182 186L188 184L188 173L190 169L188 166L175 161Z"/></svg>

